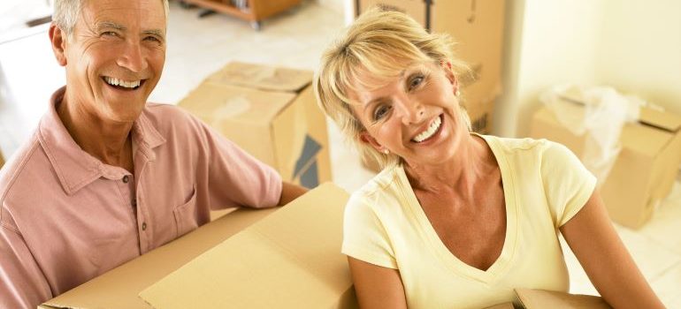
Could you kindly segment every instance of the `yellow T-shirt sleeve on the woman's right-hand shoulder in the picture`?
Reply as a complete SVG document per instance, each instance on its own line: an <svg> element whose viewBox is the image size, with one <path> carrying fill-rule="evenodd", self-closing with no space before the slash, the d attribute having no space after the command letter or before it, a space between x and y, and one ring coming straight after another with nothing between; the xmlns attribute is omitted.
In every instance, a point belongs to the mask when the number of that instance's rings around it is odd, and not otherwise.
<svg viewBox="0 0 681 309"><path fill-rule="evenodd" d="M596 188L596 177L568 147L546 141L541 177L556 228L577 215Z"/></svg>

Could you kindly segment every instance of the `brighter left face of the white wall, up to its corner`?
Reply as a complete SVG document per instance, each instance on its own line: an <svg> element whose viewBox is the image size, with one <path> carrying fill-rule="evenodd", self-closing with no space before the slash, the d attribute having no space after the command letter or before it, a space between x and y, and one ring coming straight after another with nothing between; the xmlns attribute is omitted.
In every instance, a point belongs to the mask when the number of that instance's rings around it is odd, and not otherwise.
<svg viewBox="0 0 681 309"><path fill-rule="evenodd" d="M497 102L495 133L529 132L539 93L555 84L596 82L604 2L591 0L508 1L505 94Z"/></svg>

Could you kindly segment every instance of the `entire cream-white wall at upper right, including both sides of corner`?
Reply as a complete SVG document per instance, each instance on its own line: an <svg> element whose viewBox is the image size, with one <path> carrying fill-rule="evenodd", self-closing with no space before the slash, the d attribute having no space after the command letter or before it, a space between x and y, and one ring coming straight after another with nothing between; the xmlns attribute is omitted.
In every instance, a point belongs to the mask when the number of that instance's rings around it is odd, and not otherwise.
<svg viewBox="0 0 681 309"><path fill-rule="evenodd" d="M539 93L609 85L681 114L681 1L507 0L495 133L525 136Z"/></svg>

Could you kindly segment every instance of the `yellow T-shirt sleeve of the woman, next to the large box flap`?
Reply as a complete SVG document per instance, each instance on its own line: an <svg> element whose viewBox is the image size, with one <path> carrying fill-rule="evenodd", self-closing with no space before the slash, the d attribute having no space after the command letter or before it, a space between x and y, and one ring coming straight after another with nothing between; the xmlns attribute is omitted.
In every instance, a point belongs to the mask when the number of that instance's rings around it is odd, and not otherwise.
<svg viewBox="0 0 681 309"><path fill-rule="evenodd" d="M371 205L357 192L345 207L341 251L357 260L397 269L386 229Z"/></svg>

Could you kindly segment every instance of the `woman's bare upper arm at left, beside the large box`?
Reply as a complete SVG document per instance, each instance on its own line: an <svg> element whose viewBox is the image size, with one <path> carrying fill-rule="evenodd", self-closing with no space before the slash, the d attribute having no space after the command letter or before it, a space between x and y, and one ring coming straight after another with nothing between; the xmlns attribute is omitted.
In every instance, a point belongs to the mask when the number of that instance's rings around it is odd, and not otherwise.
<svg viewBox="0 0 681 309"><path fill-rule="evenodd" d="M349 256L348 264L360 308L407 308L402 279L397 269L382 268Z"/></svg>

